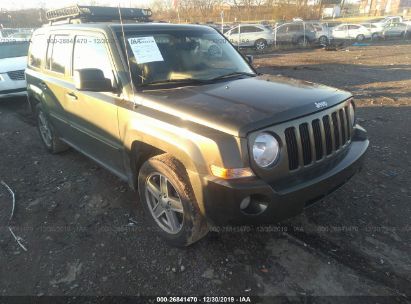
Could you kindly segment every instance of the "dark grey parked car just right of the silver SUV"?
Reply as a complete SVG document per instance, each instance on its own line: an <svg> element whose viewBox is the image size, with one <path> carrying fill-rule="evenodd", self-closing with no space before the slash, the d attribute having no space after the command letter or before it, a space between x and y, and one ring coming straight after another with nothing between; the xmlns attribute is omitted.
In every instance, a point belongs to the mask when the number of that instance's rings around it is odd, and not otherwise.
<svg viewBox="0 0 411 304"><path fill-rule="evenodd" d="M274 29L274 39L277 43L307 45L315 42L314 27L305 22L290 22L279 25Z"/></svg>

